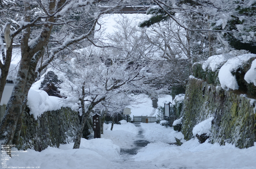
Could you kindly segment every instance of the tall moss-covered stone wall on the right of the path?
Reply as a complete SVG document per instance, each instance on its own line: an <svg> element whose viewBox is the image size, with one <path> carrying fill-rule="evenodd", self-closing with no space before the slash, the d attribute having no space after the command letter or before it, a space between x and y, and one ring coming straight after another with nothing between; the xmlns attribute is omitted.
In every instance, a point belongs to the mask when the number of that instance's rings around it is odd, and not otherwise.
<svg viewBox="0 0 256 169"><path fill-rule="evenodd" d="M224 91L220 86L189 78L181 116L181 132L187 140L193 138L195 125L212 116L211 143L248 148L256 142L255 100L236 91Z"/></svg>

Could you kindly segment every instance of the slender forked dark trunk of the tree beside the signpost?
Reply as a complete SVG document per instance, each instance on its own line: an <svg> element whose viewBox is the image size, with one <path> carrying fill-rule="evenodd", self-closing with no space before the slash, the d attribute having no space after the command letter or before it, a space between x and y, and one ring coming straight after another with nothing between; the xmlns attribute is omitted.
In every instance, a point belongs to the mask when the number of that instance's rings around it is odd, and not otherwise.
<svg viewBox="0 0 256 169"><path fill-rule="evenodd" d="M84 89L83 89L84 91ZM83 95L83 98L84 98L84 95ZM94 100L97 98L97 96L94 98ZM85 109L84 109L84 101L82 100L81 101L81 106L82 106L82 122L78 128L78 131L76 133L76 138L75 138L75 144L73 146L73 149L79 149L80 147L80 143L81 143L81 138L82 138L82 135L83 135L83 128L84 128L84 125L85 125L85 122L86 122L86 119L88 118L89 114L91 113L91 111L93 110L94 106L96 106L99 102L105 100L105 97L99 99L98 101L94 102L92 101L91 102L91 105L89 106L88 110L85 112Z"/></svg>

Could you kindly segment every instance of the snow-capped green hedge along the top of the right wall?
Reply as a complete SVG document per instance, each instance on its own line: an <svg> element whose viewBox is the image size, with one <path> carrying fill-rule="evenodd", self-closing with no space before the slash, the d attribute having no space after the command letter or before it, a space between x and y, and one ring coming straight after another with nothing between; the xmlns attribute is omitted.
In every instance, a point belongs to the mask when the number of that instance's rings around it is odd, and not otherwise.
<svg viewBox="0 0 256 169"><path fill-rule="evenodd" d="M256 95L256 55L229 53L214 55L202 62L193 64L193 76L222 89L240 90L248 97Z"/></svg>

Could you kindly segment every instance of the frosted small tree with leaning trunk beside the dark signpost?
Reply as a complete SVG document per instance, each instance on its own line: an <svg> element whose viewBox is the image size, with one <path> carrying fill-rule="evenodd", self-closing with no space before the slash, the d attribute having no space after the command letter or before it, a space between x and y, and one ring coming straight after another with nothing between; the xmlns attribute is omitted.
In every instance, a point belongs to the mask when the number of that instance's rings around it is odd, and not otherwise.
<svg viewBox="0 0 256 169"><path fill-rule="evenodd" d="M168 67L159 66L160 61L148 54L147 44L151 44L143 42L143 32L130 21L124 17L117 23L117 31L108 35L108 42L104 42L115 48L88 46L77 50L80 54L68 64L73 77L62 83L60 90L82 107L82 122L74 148L79 148L84 123L93 109L107 109L113 115L136 102L132 93L157 95L165 90L157 79L163 78Z"/></svg>

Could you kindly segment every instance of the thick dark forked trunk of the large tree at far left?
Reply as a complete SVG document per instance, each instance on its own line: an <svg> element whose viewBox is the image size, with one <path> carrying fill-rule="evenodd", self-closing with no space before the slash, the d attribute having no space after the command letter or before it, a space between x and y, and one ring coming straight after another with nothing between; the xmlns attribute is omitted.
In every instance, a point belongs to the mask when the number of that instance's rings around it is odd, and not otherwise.
<svg viewBox="0 0 256 169"><path fill-rule="evenodd" d="M49 9L54 9L52 6L54 2L49 3ZM30 2L25 1L25 21L30 21L29 11ZM48 21L53 21L53 17ZM33 48L28 46L30 27L26 28L21 39L21 55L19 71L15 81L15 86L8 101L3 121L0 125L0 142L5 145L12 145L15 133L18 137L20 127L22 125L22 112L25 109L27 94L35 77L39 72L35 72L38 60L44 54L44 45L48 43L52 25L44 25L41 34L39 35L38 42L35 43ZM20 119L21 118L21 119ZM18 123L19 121L19 123ZM19 126L16 130L16 127ZM17 139L15 139L17 142Z"/></svg>

